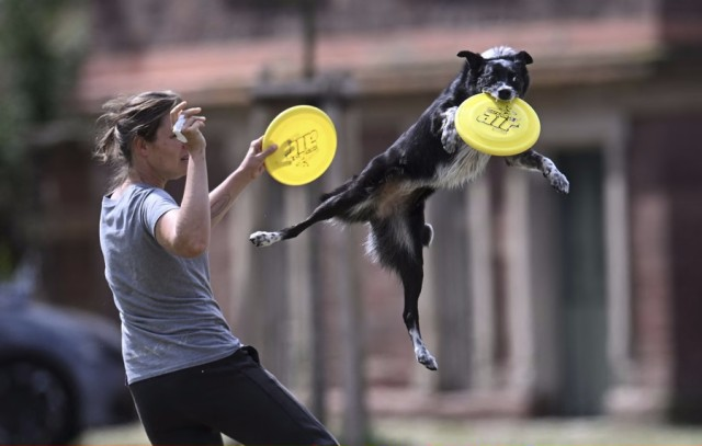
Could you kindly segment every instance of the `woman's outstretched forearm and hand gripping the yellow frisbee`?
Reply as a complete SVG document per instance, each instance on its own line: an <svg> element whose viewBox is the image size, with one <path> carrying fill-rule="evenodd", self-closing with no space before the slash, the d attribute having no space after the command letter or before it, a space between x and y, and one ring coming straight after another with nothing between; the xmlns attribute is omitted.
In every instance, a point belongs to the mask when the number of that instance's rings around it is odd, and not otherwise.
<svg viewBox="0 0 702 446"><path fill-rule="evenodd" d="M210 193L211 227L214 228L234 205L234 202L253 180L265 170L263 161L273 153L275 146L262 149L263 137L260 137L249 146L241 164L227 176L217 187Z"/></svg>

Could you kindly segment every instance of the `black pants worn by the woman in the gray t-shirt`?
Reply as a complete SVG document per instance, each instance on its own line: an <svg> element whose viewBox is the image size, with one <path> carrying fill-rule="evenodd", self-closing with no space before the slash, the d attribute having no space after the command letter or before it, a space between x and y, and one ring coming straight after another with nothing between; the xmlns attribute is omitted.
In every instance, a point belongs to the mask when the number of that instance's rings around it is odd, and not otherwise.
<svg viewBox="0 0 702 446"><path fill-rule="evenodd" d="M333 436L258 361L231 356L129 386L154 445L337 445Z"/></svg>

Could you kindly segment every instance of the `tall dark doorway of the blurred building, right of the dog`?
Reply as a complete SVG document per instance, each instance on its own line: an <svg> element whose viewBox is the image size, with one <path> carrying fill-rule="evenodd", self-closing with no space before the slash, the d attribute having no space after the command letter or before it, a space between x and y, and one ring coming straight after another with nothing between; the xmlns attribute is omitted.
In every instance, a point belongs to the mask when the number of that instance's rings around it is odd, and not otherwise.
<svg viewBox="0 0 702 446"><path fill-rule="evenodd" d="M558 296L559 392L556 413L602 413L608 386L604 294L603 160L598 151L559 157L570 181L561 203L563 287Z"/></svg>

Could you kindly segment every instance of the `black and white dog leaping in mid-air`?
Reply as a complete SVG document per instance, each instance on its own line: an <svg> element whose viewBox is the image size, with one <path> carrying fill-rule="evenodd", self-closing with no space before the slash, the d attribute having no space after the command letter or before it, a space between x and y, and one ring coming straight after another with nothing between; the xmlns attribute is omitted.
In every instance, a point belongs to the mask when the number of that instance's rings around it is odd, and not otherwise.
<svg viewBox="0 0 702 446"><path fill-rule="evenodd" d="M433 229L424 222L424 203L438 188L455 188L476 179L490 156L468 147L456 133L456 108L467 98L489 93L498 101L522 98L529 88L526 52L498 46L483 54L460 52L463 69L451 84L385 152L335 191L304 221L274 232L254 232L249 239L267 247L297 237L312 225L336 218L370 226L369 254L397 273L405 290L403 319L417 361L431 370L437 361L419 330L418 299L423 282L422 248ZM558 192L567 194L566 176L546 157L526 150L503 157L508 165L541 172Z"/></svg>

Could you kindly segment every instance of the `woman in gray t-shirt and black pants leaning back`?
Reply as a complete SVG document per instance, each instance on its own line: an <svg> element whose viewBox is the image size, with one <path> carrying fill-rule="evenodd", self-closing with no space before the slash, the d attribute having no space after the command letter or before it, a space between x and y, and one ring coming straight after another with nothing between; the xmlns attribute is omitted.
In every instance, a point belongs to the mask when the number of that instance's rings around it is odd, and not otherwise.
<svg viewBox="0 0 702 446"><path fill-rule="evenodd" d="M231 333L210 284L211 229L263 171L261 139L213 192L205 117L172 92L110 101L95 155L115 167L100 244L127 382L152 444L328 445L333 436ZM172 126L185 117L181 142ZM180 206L163 190L185 175Z"/></svg>

